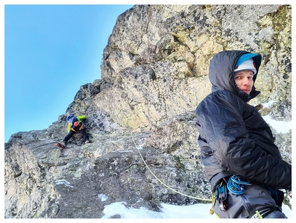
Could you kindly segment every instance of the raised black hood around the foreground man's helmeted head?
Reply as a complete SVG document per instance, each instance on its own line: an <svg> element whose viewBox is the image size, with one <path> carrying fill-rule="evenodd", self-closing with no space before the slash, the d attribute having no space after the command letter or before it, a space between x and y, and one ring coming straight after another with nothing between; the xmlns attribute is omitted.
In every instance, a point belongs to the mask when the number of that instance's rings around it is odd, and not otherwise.
<svg viewBox="0 0 296 223"><path fill-rule="evenodd" d="M254 55L251 57L256 65L257 74L253 76L253 88L250 95L237 88L234 80L234 68L237 60L244 54L251 53L244 50L226 50L219 52L211 59L209 66L209 79L212 84L212 93L216 90L229 90L244 101L249 101L260 94L255 90L255 80L261 65L262 56Z"/></svg>

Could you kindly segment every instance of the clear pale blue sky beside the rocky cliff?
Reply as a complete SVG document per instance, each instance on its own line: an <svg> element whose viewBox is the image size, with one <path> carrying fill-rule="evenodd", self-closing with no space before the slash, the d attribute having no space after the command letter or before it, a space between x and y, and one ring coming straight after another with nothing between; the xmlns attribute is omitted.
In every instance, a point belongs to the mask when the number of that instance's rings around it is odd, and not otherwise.
<svg viewBox="0 0 296 223"><path fill-rule="evenodd" d="M63 115L80 86L101 79L103 49L132 5L5 5L5 142Z"/></svg>

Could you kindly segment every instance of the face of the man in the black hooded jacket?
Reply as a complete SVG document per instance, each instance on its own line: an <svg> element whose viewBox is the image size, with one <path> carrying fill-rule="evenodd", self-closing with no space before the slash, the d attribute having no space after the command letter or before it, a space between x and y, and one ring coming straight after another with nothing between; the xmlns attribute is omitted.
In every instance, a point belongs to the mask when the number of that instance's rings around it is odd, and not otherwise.
<svg viewBox="0 0 296 223"><path fill-rule="evenodd" d="M250 95L254 81L253 72L251 70L241 70L235 73L234 79L237 88Z"/></svg>

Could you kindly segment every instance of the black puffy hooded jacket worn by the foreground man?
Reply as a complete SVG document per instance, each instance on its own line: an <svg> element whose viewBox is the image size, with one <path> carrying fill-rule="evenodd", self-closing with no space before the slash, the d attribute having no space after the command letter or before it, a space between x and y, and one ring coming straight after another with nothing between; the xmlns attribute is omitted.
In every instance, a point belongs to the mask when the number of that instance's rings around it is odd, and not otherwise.
<svg viewBox="0 0 296 223"><path fill-rule="evenodd" d="M209 79L212 93L196 108L198 144L211 190L223 177L237 174L273 188L291 189L291 166L284 162L273 143L268 124L257 110L247 104L260 92L248 94L235 86L233 78L237 59L249 53L229 50L211 60ZM257 71L261 55L253 57ZM257 75L254 75L253 81Z"/></svg>

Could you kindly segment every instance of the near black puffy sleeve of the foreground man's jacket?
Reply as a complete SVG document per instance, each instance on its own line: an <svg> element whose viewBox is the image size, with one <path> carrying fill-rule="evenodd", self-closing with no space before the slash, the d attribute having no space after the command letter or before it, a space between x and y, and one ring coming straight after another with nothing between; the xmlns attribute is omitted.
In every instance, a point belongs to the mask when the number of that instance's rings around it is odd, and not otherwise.
<svg viewBox="0 0 296 223"><path fill-rule="evenodd" d="M231 93L218 92L202 101L197 110L200 136L215 159L230 173L275 188L291 188L291 166L281 157L266 153L249 138L242 113L244 104Z"/></svg>

